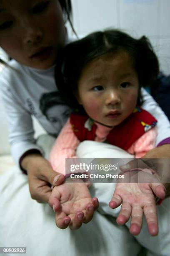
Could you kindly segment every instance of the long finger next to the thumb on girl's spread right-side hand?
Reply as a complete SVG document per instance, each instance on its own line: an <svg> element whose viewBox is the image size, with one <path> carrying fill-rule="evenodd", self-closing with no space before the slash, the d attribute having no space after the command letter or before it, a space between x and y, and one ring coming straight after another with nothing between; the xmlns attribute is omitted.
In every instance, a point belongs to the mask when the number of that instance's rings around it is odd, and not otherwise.
<svg viewBox="0 0 170 256"><path fill-rule="evenodd" d="M155 203L147 204L143 207L148 230L151 236L158 235L158 217Z"/></svg>

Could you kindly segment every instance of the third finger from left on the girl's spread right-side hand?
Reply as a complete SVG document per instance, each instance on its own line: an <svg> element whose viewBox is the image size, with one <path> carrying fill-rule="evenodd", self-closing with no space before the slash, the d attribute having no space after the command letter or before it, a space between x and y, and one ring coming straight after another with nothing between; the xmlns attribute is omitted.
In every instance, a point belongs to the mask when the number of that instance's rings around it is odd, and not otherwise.
<svg viewBox="0 0 170 256"><path fill-rule="evenodd" d="M130 233L138 236L143 223L143 209L140 206L134 206L131 213Z"/></svg>

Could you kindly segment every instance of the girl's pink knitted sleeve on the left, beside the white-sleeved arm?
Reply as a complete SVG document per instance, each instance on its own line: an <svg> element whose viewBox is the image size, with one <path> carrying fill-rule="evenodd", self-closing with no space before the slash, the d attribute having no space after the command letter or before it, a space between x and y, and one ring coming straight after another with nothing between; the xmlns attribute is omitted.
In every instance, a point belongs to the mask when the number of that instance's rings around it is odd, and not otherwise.
<svg viewBox="0 0 170 256"><path fill-rule="evenodd" d="M59 136L57 137L55 144L50 152L50 164L56 172L60 172L65 175L65 159L77 158L75 150L80 141L72 131L70 118L62 128Z"/></svg>

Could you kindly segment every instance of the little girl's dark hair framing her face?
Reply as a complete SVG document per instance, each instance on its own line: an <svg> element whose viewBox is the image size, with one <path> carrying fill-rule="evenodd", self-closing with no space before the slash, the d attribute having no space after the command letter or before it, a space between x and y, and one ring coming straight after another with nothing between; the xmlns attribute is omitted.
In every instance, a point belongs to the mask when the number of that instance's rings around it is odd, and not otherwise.
<svg viewBox="0 0 170 256"><path fill-rule="evenodd" d="M106 30L91 33L78 41L65 46L60 54L55 70L55 79L59 91L65 95L68 104L82 110L75 98L77 82L82 69L93 59L110 52L125 50L132 57L138 74L140 87L151 86L158 76L159 64L153 48L145 36L135 39L118 30ZM142 98L138 95L138 105Z"/></svg>

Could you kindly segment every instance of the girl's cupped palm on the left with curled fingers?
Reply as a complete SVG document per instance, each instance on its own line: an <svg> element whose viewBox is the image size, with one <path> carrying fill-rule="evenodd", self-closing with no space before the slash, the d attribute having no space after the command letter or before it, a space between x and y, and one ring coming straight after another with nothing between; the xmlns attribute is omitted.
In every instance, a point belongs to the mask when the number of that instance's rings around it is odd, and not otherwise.
<svg viewBox="0 0 170 256"><path fill-rule="evenodd" d="M91 198L84 183L64 183L54 187L49 205L55 210L55 222L58 228L78 229L82 223L92 220L98 207L96 197Z"/></svg>

